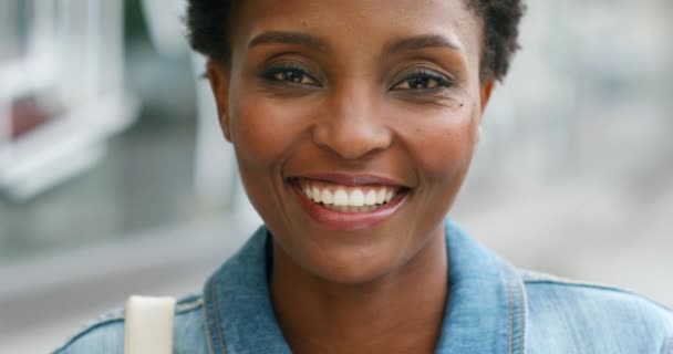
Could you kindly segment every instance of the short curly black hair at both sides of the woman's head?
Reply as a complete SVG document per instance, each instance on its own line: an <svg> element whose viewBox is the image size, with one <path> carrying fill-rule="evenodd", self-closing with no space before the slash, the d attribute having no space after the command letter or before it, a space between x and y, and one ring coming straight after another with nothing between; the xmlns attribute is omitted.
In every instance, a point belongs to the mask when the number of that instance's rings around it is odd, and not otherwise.
<svg viewBox="0 0 673 354"><path fill-rule="evenodd" d="M228 63L230 45L227 40L229 14L241 0L188 0L185 22L191 48L206 56ZM482 81L503 81L514 53L519 50L519 22L526 6L524 0L464 0L484 23Z"/></svg>

